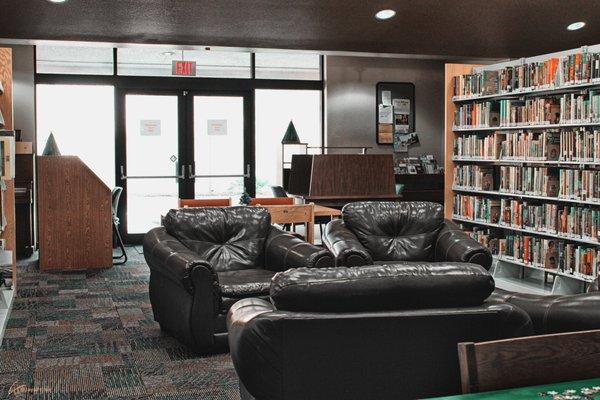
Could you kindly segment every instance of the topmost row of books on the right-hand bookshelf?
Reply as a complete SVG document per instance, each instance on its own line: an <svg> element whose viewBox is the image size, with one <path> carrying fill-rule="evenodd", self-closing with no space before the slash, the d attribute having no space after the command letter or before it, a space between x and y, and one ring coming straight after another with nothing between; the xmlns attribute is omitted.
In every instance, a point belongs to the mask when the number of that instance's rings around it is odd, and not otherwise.
<svg viewBox="0 0 600 400"><path fill-rule="evenodd" d="M455 97L551 89L600 79L600 53L579 53L454 77Z"/></svg>

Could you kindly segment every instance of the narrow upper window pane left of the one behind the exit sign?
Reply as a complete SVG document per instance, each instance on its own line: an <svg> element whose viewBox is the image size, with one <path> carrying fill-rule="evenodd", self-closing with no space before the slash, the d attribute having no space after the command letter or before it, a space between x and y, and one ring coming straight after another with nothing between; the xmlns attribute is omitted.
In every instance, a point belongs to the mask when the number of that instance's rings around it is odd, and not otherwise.
<svg viewBox="0 0 600 400"><path fill-rule="evenodd" d="M43 74L112 75L113 49L36 46L36 68Z"/></svg>

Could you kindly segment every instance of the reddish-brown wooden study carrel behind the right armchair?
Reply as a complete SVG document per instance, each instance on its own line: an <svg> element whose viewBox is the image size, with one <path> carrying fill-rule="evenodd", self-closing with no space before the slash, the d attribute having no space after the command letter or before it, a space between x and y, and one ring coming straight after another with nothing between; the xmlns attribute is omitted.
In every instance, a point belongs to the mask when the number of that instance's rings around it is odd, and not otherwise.
<svg viewBox="0 0 600 400"><path fill-rule="evenodd" d="M330 206L400 198L391 154L294 155L289 193Z"/></svg>

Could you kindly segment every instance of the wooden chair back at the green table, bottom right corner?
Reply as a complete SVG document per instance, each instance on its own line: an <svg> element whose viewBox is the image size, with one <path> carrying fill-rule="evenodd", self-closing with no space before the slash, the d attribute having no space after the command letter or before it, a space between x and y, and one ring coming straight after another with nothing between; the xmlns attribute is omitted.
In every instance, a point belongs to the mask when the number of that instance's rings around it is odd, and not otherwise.
<svg viewBox="0 0 600 400"><path fill-rule="evenodd" d="M600 376L600 330L459 343L463 393Z"/></svg>

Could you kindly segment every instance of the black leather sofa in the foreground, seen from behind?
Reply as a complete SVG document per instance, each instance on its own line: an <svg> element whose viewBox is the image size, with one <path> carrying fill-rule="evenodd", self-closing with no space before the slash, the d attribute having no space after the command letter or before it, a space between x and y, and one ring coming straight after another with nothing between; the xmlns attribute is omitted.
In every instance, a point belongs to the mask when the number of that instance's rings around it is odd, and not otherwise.
<svg viewBox="0 0 600 400"><path fill-rule="evenodd" d="M532 333L512 304L465 263L295 269L271 302L245 299L228 316L242 398L414 399L460 393L457 343Z"/></svg>

